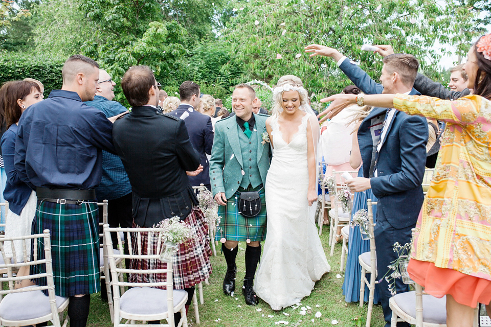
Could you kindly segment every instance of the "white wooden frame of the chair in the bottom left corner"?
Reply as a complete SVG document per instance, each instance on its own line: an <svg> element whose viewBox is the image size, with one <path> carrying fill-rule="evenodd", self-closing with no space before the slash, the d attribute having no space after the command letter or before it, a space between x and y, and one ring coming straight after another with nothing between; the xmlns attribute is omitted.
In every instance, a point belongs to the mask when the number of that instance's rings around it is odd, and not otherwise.
<svg viewBox="0 0 491 327"><path fill-rule="evenodd" d="M12 251L14 251L14 241L21 240L24 244L24 249L26 248L26 242L31 242L34 240L34 246L33 246L33 257L31 258L31 261L25 261L22 263L12 263L12 260L10 257L5 257L5 250L4 247L6 243L10 243L12 247ZM44 244L44 259L38 258L38 253L37 253L37 243L42 242ZM0 238L0 251L2 251L2 255L4 256L5 264L0 264L0 269L2 268L7 268L7 277L0 276L0 283L3 282L8 282L9 289L8 290L0 290L0 295L6 295L6 294L14 294L14 293L23 293L23 292L34 292L34 291L43 291L43 290L48 290L48 296L49 296L49 301L50 301L50 307L51 307L51 315L52 317L49 320L52 320L54 322L55 326L60 326L60 320L58 316L58 308L57 308L57 303L56 303L56 296L55 296L55 283L53 279L53 265L52 265L52 259L51 259L51 240L50 240L50 231L48 229L44 229L42 234L36 234L36 235L28 235L28 236L21 236L21 237L12 237L12 238ZM14 258L15 258L15 254ZM35 266L35 265L44 265L44 269L40 269L38 273L31 274L27 276L13 276L12 269L13 268L19 268L23 266ZM41 266L42 267L42 266ZM37 270L37 269L36 269ZM19 289L14 289L14 283L17 281L24 281L24 280L32 280L32 279L37 279L37 278L46 278L47 279L47 285L46 286L34 286L34 287L24 287L24 288L19 288ZM7 297L4 299L4 301L7 300ZM2 318L0 317L0 325L7 324L7 325L12 325L8 324L5 320L2 321ZM37 319L31 319L31 320L37 320ZM46 321L46 320L43 320ZM30 320L25 320L24 323L21 325L30 325L30 324L36 324L40 323L42 321L30 321Z"/></svg>

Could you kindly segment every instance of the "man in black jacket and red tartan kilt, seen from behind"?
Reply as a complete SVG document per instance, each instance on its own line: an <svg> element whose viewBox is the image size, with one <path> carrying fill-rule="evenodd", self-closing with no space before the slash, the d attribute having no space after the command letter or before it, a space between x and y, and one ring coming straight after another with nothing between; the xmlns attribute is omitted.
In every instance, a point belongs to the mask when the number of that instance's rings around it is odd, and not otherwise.
<svg viewBox="0 0 491 327"><path fill-rule="evenodd" d="M121 88L132 110L115 122L113 142L133 190L133 227L152 227L162 219L177 216L192 228L192 241L178 246L173 262L173 287L188 293L187 312L194 286L211 273L208 228L186 173L202 172L200 156L193 148L185 121L155 111L159 83L148 66L129 68ZM136 242L136 235L134 238ZM150 242L149 247L157 249L158 240L152 240L143 233L141 242ZM149 265L166 267L160 260L135 259L130 269L146 269ZM164 279L165 274L129 275L130 282ZM181 314L174 315L179 321Z"/></svg>

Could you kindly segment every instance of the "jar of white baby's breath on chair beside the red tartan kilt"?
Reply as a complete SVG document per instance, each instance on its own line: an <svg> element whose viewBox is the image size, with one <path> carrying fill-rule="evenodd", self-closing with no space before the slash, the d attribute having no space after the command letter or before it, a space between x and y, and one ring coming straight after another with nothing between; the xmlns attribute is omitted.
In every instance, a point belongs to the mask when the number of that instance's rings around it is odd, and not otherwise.
<svg viewBox="0 0 491 327"><path fill-rule="evenodd" d="M169 261L174 252L177 251L179 244L186 243L193 238L191 226L180 220L177 216L164 219L153 227L160 228L161 230L162 248L160 259L162 261Z"/></svg>

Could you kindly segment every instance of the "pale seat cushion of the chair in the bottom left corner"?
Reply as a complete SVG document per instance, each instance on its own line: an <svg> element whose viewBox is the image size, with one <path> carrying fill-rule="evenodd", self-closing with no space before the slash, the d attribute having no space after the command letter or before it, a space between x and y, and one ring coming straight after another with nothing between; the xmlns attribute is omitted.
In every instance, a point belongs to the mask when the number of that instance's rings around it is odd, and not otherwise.
<svg viewBox="0 0 491 327"><path fill-rule="evenodd" d="M37 285L28 288L38 287ZM56 296L56 307L60 308L68 297ZM51 313L50 298L42 291L7 294L0 302L0 317L5 320L28 320Z"/></svg>

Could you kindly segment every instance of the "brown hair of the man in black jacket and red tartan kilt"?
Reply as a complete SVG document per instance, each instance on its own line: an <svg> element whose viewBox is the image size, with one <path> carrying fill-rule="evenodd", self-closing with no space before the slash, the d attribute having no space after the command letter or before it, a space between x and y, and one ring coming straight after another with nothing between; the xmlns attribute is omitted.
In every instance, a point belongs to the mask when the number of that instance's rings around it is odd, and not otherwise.
<svg viewBox="0 0 491 327"><path fill-rule="evenodd" d="M148 90L155 86L155 76L148 66L132 66L123 75L121 88L132 107L144 106L150 100Z"/></svg>

